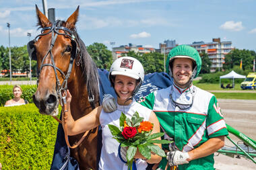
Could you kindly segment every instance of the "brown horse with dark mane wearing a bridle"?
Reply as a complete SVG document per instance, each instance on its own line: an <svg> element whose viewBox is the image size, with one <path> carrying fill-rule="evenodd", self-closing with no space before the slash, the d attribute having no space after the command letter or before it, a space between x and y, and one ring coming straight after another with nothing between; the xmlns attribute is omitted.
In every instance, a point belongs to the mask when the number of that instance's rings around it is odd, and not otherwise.
<svg viewBox="0 0 256 170"><path fill-rule="evenodd" d="M66 22L58 20L53 24L36 6L38 26L42 30L28 43L28 52L37 60L38 89L33 100L40 114L56 116L65 89L72 95L75 120L99 105L98 71L75 29L78 12L79 7ZM97 134L98 128L90 130L84 142L71 149L71 157L78 161L80 169L96 169ZM70 144L81 137L82 134L69 136Z"/></svg>

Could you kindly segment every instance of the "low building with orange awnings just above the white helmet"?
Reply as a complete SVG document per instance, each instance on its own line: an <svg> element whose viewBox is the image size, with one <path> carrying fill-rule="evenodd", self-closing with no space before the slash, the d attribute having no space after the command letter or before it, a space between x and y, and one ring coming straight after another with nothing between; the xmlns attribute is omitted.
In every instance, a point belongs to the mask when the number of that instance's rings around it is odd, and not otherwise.
<svg viewBox="0 0 256 170"><path fill-rule="evenodd" d="M124 54L127 54L129 51L134 51L137 54L146 54L150 52L155 52L155 48L148 48L143 46L136 46L135 44L129 43L129 45L119 46L119 47L113 47L113 60L116 60L117 58L123 56Z"/></svg>

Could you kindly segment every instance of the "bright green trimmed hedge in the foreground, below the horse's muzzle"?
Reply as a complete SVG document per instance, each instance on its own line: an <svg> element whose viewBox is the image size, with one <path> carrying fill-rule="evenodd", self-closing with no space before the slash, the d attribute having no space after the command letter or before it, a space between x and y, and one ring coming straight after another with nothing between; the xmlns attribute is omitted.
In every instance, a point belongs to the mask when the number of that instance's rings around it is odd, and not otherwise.
<svg viewBox="0 0 256 170"><path fill-rule="evenodd" d="M3 169L50 169L58 123L32 103L0 107Z"/></svg>

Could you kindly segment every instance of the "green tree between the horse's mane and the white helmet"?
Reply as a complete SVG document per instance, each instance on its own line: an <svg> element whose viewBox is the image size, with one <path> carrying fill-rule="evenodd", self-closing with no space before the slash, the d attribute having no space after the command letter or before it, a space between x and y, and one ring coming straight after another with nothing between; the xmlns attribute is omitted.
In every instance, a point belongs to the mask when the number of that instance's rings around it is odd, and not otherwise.
<svg viewBox="0 0 256 170"><path fill-rule="evenodd" d="M112 63L112 52L107 47L98 42L88 46L88 53L92 56L92 59L100 69L110 69Z"/></svg>

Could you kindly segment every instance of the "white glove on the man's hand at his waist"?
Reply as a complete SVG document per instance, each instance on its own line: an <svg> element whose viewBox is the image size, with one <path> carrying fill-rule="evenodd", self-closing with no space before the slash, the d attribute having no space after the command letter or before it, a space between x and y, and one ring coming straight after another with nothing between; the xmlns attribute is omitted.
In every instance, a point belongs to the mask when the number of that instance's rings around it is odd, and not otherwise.
<svg viewBox="0 0 256 170"><path fill-rule="evenodd" d="M186 161L188 158L189 153L183 153L181 151L170 151L166 154L166 159L170 166L189 163L189 161Z"/></svg>

